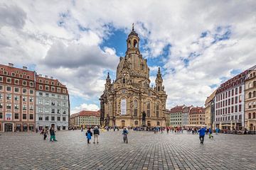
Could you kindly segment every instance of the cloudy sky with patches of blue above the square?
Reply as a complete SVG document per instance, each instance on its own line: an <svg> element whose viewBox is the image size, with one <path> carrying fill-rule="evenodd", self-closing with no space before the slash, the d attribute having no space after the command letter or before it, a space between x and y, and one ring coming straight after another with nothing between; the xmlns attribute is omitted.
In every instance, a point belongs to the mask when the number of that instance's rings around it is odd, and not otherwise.
<svg viewBox="0 0 256 170"><path fill-rule="evenodd" d="M203 106L223 81L256 64L256 1L0 1L0 62L68 86L71 113L97 110L134 23L167 108Z"/></svg>

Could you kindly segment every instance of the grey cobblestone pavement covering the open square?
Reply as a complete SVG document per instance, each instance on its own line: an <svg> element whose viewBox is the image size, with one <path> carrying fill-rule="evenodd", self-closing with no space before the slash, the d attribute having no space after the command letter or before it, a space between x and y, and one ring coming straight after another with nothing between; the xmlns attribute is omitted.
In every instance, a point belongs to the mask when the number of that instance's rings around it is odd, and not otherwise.
<svg viewBox="0 0 256 170"><path fill-rule="evenodd" d="M1 133L0 169L255 169L256 135L101 132L87 144L78 130L56 132L58 142L28 133Z"/></svg>

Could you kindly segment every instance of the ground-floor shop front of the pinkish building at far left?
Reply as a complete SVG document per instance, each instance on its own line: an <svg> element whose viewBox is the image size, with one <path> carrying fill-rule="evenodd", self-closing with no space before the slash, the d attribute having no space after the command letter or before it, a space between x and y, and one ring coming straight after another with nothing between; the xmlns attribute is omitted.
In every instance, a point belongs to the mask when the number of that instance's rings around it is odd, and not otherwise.
<svg viewBox="0 0 256 170"><path fill-rule="evenodd" d="M35 123L23 122L1 122L0 132L33 132L35 130Z"/></svg>

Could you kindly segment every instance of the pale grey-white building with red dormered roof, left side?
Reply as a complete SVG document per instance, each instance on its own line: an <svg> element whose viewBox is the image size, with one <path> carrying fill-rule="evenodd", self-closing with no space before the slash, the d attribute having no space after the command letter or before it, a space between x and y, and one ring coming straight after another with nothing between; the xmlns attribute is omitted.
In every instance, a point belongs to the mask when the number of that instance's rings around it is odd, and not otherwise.
<svg viewBox="0 0 256 170"><path fill-rule="evenodd" d="M36 128L68 130L70 103L67 89L58 80L47 77L37 76L36 81Z"/></svg>

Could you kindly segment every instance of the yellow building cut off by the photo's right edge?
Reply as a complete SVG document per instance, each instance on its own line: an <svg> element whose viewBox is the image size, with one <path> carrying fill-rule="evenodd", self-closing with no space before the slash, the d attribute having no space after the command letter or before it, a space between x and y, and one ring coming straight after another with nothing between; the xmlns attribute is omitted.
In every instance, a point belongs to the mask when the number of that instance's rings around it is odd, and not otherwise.
<svg viewBox="0 0 256 170"><path fill-rule="evenodd" d="M256 130L256 69L245 78L245 128Z"/></svg>

